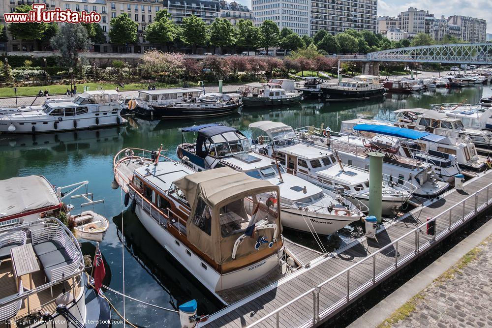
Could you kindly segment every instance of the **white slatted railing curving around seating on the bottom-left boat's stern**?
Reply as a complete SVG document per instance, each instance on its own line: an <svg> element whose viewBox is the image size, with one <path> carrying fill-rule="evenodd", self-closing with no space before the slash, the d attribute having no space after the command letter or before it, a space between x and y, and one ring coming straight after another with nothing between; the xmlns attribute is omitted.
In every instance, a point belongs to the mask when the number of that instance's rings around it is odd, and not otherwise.
<svg viewBox="0 0 492 328"><path fill-rule="evenodd" d="M43 227L40 228L40 225L43 225ZM13 231L18 231L22 229L30 229L30 227L35 228L31 230L31 241L33 244L41 241L57 240L66 250L73 263L52 270L52 279L48 280L43 285L35 286L33 289L26 290L22 294L17 294L12 298L8 298L4 302L0 302L0 308L7 304L27 299L30 296L36 295L45 290L52 289L55 285L80 276L80 274L84 271L84 260L80 245L70 230L68 230L68 228L59 219L55 217L43 218L29 223L11 226L10 229ZM75 283L72 286L72 290L75 298Z"/></svg>

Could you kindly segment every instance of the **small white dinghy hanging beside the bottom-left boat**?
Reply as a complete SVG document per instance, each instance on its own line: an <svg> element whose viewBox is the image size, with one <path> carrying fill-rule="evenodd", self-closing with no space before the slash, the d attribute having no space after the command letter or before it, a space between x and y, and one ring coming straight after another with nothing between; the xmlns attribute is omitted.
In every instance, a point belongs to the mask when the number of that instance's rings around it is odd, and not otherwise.
<svg viewBox="0 0 492 328"><path fill-rule="evenodd" d="M75 236L101 242L109 228L109 221L92 210L72 215L75 222Z"/></svg>

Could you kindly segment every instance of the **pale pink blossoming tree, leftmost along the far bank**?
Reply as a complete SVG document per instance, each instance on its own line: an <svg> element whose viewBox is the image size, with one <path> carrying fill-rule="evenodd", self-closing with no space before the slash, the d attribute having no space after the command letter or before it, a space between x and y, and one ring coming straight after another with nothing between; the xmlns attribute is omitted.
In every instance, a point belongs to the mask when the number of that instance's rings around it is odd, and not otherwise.
<svg viewBox="0 0 492 328"><path fill-rule="evenodd" d="M158 50L148 51L142 56L140 68L146 75L180 77L184 73L184 55L163 53Z"/></svg>

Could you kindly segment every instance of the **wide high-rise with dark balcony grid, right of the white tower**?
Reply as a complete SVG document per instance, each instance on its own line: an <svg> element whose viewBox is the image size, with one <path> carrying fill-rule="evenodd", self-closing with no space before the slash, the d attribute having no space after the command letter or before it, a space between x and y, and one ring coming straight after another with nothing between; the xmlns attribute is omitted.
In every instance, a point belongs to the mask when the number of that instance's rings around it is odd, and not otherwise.
<svg viewBox="0 0 492 328"><path fill-rule="evenodd" d="M348 29L376 32L377 0L312 0L310 35L318 30L332 34Z"/></svg>

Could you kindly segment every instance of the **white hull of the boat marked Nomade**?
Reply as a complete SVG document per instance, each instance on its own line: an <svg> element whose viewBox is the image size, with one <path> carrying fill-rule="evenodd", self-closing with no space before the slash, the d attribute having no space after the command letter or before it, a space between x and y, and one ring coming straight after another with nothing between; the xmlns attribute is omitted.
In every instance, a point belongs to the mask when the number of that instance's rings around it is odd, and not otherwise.
<svg viewBox="0 0 492 328"><path fill-rule="evenodd" d="M285 207L280 211L284 227L305 232L313 231L319 235L331 235L346 225L359 220L362 216L362 213L361 216L344 216Z"/></svg>

